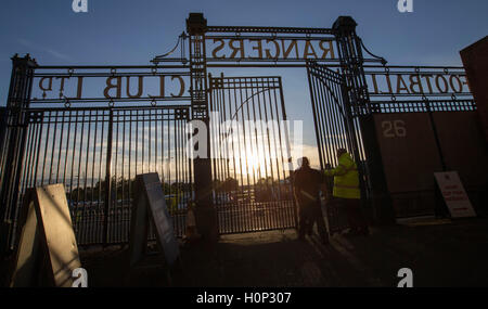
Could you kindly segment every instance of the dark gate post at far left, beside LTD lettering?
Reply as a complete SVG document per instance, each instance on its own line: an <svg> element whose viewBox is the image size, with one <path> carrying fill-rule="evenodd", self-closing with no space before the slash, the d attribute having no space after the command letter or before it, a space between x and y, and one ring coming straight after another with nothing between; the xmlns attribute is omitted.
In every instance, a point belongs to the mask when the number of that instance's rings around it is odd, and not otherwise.
<svg viewBox="0 0 488 309"><path fill-rule="evenodd" d="M17 198L27 133L27 113L33 88L36 60L29 54L12 57L12 77L7 102L7 125L0 154L0 250L5 255L12 247Z"/></svg>

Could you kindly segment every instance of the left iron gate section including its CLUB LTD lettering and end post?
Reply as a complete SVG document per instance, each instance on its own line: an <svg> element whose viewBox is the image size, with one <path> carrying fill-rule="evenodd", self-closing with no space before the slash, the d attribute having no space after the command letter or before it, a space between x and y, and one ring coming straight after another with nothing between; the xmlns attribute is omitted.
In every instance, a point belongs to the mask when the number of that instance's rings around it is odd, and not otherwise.
<svg viewBox="0 0 488 309"><path fill-rule="evenodd" d="M23 61L14 59L13 78L18 81L11 87L3 127L2 150L14 151L2 151L0 157L3 245L15 243L26 190L51 183L63 183L66 189L79 245L127 243L133 180L138 173L154 171L162 179L175 233L181 236L187 205L194 195L187 156L190 106L181 104L188 99L178 92L165 96L159 81L167 77L179 87L185 73L167 74L156 66L17 65ZM133 76L132 80L139 79L138 94L129 87ZM92 80L89 77L105 79L104 96L95 95L100 82L87 83ZM142 96L143 81L151 85L150 78L160 85L162 95ZM127 98L120 91L123 79L127 80ZM60 95L53 93L55 81L62 82ZM41 91L33 91L33 83ZM81 88L84 83L90 87ZM78 95L66 98L73 90L69 86L75 86ZM81 94L80 89L88 93ZM157 93L157 88L152 89ZM163 101L177 104L158 105Z"/></svg>

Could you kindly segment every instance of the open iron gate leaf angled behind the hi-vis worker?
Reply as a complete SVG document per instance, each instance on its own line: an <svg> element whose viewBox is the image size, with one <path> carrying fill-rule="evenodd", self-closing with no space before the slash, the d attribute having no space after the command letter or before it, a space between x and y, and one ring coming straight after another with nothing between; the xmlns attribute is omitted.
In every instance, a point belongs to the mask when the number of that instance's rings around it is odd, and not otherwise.
<svg viewBox="0 0 488 309"><path fill-rule="evenodd" d="M359 128L358 111L354 111L344 76L316 62L307 63L307 75L316 127L317 147L321 169L338 164L336 151L346 149L356 160L362 196L367 197L365 155ZM357 107L355 108L357 110ZM331 188L332 190L332 188ZM365 198L363 198L365 199ZM326 207L331 233L348 227L346 218L334 201Z"/></svg>

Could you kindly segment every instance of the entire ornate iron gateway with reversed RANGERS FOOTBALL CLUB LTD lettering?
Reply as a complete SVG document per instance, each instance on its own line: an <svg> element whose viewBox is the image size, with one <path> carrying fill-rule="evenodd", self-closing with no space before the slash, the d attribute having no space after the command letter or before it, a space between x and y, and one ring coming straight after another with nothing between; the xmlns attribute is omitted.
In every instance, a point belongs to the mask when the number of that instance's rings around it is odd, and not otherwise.
<svg viewBox="0 0 488 309"><path fill-rule="evenodd" d="M427 113L440 111L431 104L439 103L435 99L439 95L451 112L465 106L472 112L476 105L461 80L461 90L459 86L449 90L449 82L464 75L462 67L386 66L384 59L364 48L356 26L347 16L338 17L332 28L208 26L203 14L192 13L177 46L181 55L156 56L152 65L39 66L29 56L14 57L0 137L0 215L2 235L8 235L2 237L2 247L11 248L14 243L25 189L55 181L68 184L73 221L78 210L88 214L77 227L80 243L126 242L131 178L139 171L163 176L168 204L175 206L171 214L178 235L184 233L185 204L191 199L200 209L197 224L204 234L217 224L221 233L294 228L296 209L290 197L290 169L284 166L297 158L284 155L290 138L286 129L255 130L251 139L236 132L230 145L244 150L239 153L246 157L241 163L211 156L229 150L221 145L232 136L221 134L222 128L228 129L221 125L227 120L286 120L279 77L208 75L209 69L232 67L307 68L321 167L335 163L334 147L348 149L362 173L370 217L391 221L391 188L385 177L375 115L385 113L385 106L388 113L406 106L418 113L424 105ZM406 74L410 85L401 77ZM385 81L378 81L380 75ZM391 76L397 77L396 89ZM105 78L103 94L82 95L92 77ZM159 92L144 92L149 78ZM428 78L446 89L436 92ZM55 91L52 82L59 85ZM69 82L72 93L67 94ZM175 89L165 91L170 82ZM467 98L460 100L461 95ZM404 98L407 104L397 98ZM262 112L265 105L270 108ZM258 117L247 110L252 106L262 107ZM221 121L211 123L211 112L220 112ZM190 120L209 126L204 158L188 157L183 151L188 136L194 133L187 131ZM270 159L273 151L277 155ZM267 201L269 196L274 199Z"/></svg>

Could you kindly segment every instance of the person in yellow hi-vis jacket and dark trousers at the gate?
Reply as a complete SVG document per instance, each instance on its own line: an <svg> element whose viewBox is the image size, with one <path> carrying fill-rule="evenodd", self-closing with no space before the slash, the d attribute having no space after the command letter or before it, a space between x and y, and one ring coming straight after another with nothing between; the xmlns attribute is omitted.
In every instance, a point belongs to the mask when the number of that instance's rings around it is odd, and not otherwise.
<svg viewBox="0 0 488 309"><path fill-rule="evenodd" d="M325 170L325 176L334 177L332 195L343 205L347 214L350 234L369 234L368 223L361 210L358 167L345 149L337 150L338 165Z"/></svg>

